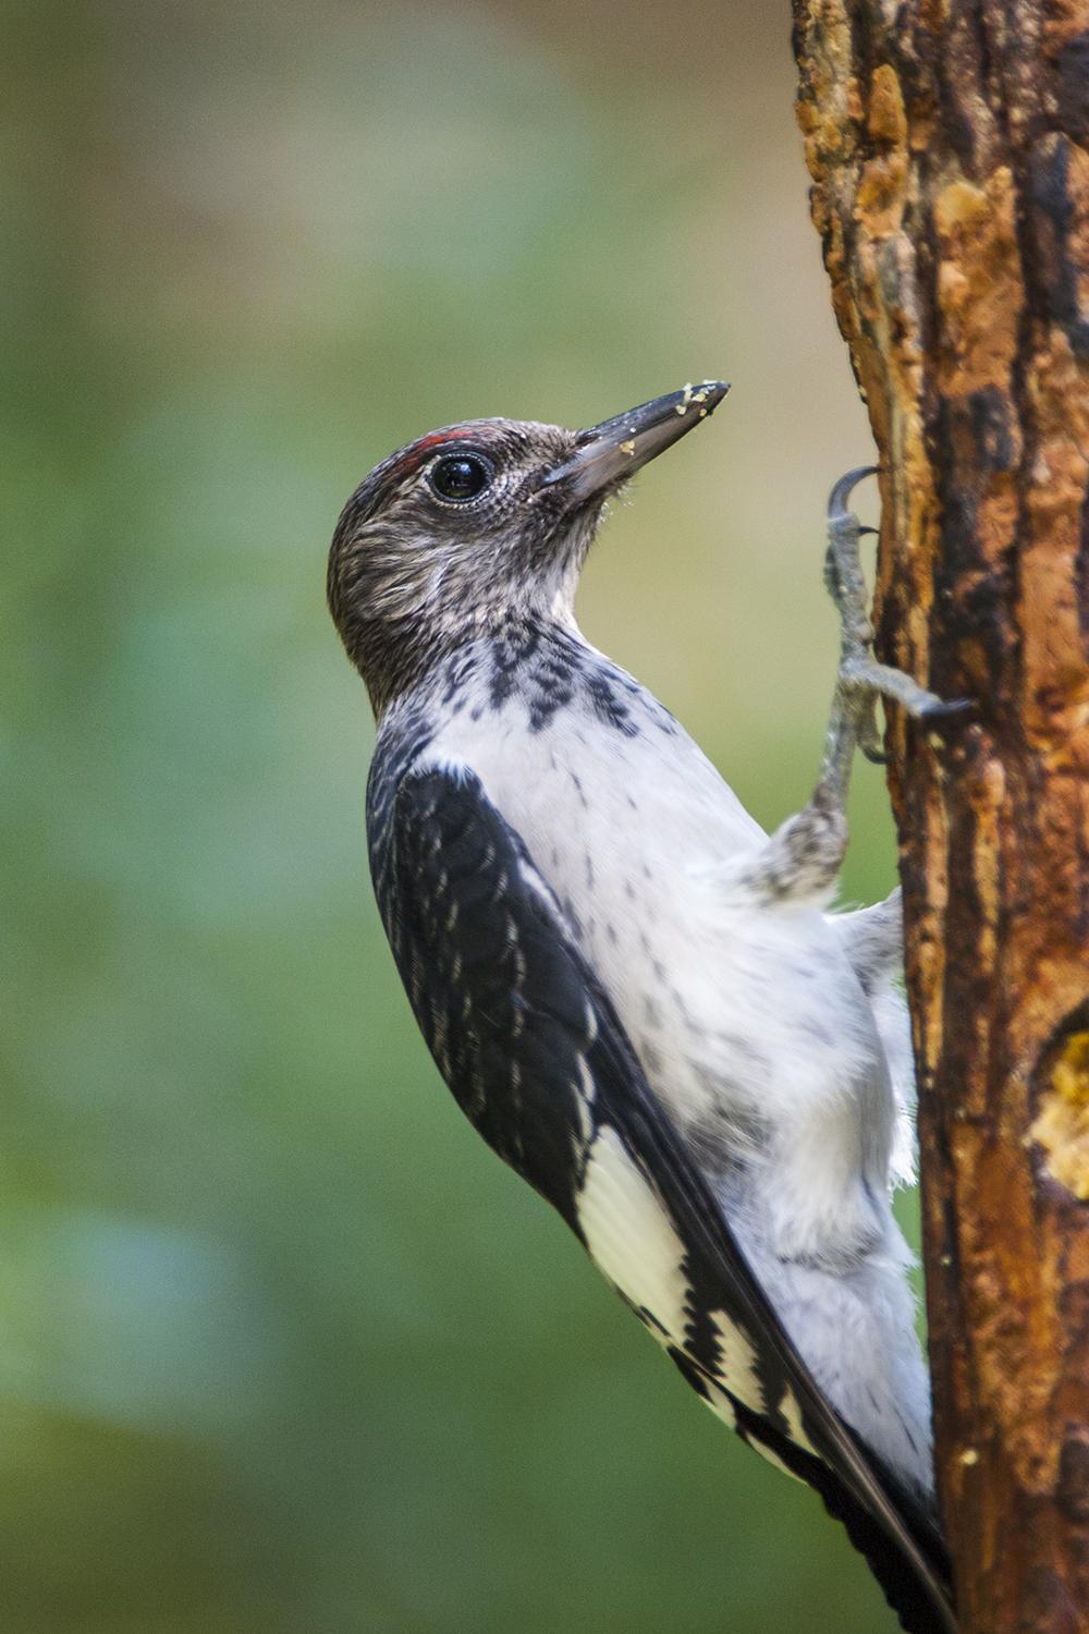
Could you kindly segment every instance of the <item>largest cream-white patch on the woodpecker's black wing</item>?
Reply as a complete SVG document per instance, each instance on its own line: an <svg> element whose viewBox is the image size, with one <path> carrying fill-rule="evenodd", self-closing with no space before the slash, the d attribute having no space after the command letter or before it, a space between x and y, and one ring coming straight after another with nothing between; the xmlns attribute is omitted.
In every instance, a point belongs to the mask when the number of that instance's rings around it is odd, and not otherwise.
<svg viewBox="0 0 1089 1634"><path fill-rule="evenodd" d="M575 1208L598 1270L681 1343L687 1320L684 1243L653 1186L609 1126L589 1149Z"/></svg>

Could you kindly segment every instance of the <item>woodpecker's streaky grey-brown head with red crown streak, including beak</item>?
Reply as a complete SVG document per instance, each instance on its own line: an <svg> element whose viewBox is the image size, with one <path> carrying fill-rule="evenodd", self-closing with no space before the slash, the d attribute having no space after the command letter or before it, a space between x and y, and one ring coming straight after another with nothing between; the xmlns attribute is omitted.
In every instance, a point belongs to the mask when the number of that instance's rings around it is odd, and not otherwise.
<svg viewBox="0 0 1089 1634"><path fill-rule="evenodd" d="M570 619L604 502L727 389L686 386L586 431L465 420L376 466L328 564L330 611L376 708L509 618Z"/></svg>

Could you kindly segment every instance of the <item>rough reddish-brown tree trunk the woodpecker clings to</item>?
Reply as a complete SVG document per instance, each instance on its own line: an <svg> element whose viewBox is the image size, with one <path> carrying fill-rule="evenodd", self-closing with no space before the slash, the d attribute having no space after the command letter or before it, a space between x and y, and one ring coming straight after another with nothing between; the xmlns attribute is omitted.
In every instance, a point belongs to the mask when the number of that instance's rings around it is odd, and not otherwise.
<svg viewBox="0 0 1089 1634"><path fill-rule="evenodd" d="M1089 1629L1089 3L793 0L882 464L940 1502L963 1627Z"/></svg>

